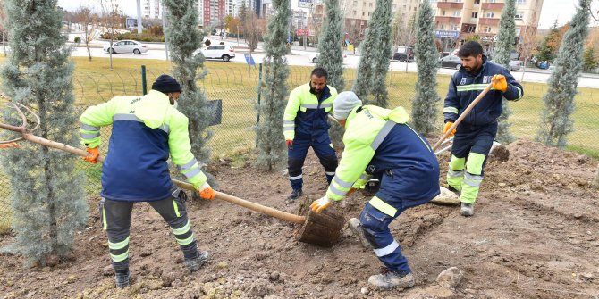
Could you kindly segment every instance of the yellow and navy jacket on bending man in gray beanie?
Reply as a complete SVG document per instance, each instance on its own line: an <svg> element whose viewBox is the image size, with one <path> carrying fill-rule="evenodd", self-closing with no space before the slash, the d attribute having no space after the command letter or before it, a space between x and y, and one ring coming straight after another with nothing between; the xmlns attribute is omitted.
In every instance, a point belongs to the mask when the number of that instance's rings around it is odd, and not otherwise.
<svg viewBox="0 0 599 299"><path fill-rule="evenodd" d="M354 108L345 124L342 159L326 196L342 200L350 187L363 187L369 174L385 170L399 176L397 195L413 204L438 194L438 162L426 140L409 126L408 118L402 107Z"/></svg>

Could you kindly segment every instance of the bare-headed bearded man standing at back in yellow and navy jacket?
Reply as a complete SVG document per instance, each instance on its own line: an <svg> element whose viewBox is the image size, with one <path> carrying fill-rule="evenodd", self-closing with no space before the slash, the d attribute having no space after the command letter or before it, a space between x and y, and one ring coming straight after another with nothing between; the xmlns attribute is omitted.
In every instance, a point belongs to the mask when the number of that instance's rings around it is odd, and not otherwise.
<svg viewBox="0 0 599 299"><path fill-rule="evenodd" d="M287 145L291 195L295 200L303 195L303 173L308 148L311 146L325 168L328 184L337 168L337 156L329 137L327 115L333 112L333 100L337 96L334 87L326 85L327 72L316 68L310 74L310 82L291 91L283 115L283 135Z"/></svg>

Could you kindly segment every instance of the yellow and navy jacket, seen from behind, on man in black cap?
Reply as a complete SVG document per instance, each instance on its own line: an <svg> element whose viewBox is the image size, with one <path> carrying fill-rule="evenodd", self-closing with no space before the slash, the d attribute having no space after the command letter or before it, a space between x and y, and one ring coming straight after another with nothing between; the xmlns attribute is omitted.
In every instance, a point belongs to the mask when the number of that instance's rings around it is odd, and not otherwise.
<svg viewBox="0 0 599 299"><path fill-rule="evenodd" d="M198 188L207 181L191 154L189 120L168 96L150 90L146 96L116 96L89 107L80 117L83 145L100 145L100 127L113 125L102 168L102 192L110 200L139 202L171 196L171 160Z"/></svg>

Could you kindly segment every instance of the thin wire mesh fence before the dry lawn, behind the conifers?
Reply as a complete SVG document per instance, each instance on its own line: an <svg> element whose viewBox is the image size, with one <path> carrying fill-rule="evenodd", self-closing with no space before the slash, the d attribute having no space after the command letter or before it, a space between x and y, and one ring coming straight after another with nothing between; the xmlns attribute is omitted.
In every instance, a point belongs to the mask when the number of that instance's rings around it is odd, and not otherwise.
<svg viewBox="0 0 599 299"><path fill-rule="evenodd" d="M254 126L257 122L255 106L260 95L258 82L260 66L247 66L238 63L214 63L208 65L207 76L198 81L198 86L208 100L222 101L222 121L210 129L214 137L208 142L213 156L227 155L255 145ZM288 91L301 84L308 83L312 67L290 66L287 80ZM159 67L146 68L147 87L159 75L171 71ZM344 72L346 88L350 89L356 78L355 69ZM393 71L384 79L389 86L389 106L402 105L410 109L415 95L416 73ZM439 127L442 126L443 96L447 92L450 76L437 77L437 92L441 96L438 104ZM115 71L75 72L72 78L73 93L76 97L75 113L80 114L91 104L108 101L114 96L141 95L144 91L142 71L138 67L121 67ZM510 103L513 114L510 121L512 133L516 137L534 138L540 122L540 113L544 108L542 96L546 91L544 84L524 83L525 97L518 103ZM599 89L579 88L576 103L578 109L573 114L575 132L569 135L569 149L599 156ZM283 124L282 124L283 125ZM79 129L79 128L74 128ZM102 130L103 142L100 153L106 153L110 128ZM282 137L283 138L283 137ZM86 192L97 195L100 190L101 165L92 165L77 160L77 169L83 171L88 179ZM11 208L9 198L12 192L9 180L0 169L0 231L10 228Z"/></svg>

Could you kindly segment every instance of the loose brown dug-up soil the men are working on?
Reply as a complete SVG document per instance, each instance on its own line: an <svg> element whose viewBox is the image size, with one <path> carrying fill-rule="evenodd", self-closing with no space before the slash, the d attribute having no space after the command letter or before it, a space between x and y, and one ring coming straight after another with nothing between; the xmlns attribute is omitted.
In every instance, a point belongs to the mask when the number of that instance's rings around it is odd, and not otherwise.
<svg viewBox="0 0 599 299"><path fill-rule="evenodd" d="M131 282L114 288L97 198L88 228L77 235L70 261L23 269L19 256L0 255L0 298L599 298L599 192L589 187L596 161L527 140L508 145L507 162L489 162L475 216L456 206L425 204L391 224L417 279L409 290L367 285L382 264L350 229L332 248L302 244L294 225L221 201L188 202L198 245L210 262L185 270L171 231L147 203L134 208ZM442 181L448 154L439 157ZM212 166L220 190L286 212L325 194L324 170L310 152L305 195L287 203L282 172L249 162ZM337 203L349 219L369 197ZM0 236L0 246L14 236ZM437 275L455 266L464 276L454 290ZM366 294L365 294L366 293Z"/></svg>

